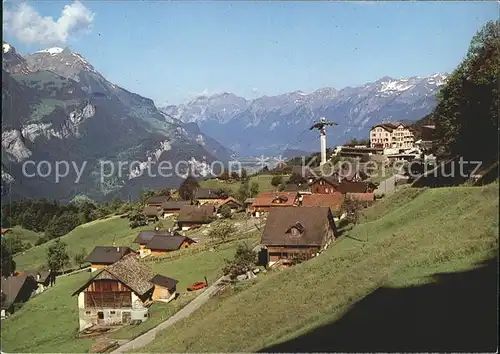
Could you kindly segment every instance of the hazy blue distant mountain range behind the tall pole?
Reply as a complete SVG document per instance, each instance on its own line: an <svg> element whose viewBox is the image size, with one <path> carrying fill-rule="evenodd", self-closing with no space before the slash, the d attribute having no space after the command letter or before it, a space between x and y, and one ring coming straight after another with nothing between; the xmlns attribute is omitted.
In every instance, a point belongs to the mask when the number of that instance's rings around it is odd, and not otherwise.
<svg viewBox="0 0 500 354"><path fill-rule="evenodd" d="M318 133L308 128L320 117L339 124L327 131L328 146L367 138L370 127L377 123L415 121L430 113L447 76L383 77L359 87L326 87L255 100L224 92L160 109L183 122L198 123L202 132L239 155L317 151Z"/></svg>

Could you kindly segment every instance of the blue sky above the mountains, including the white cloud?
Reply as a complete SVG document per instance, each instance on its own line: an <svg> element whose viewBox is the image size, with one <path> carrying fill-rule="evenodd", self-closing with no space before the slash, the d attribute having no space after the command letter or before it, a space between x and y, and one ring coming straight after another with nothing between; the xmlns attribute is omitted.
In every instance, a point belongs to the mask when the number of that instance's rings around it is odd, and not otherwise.
<svg viewBox="0 0 500 354"><path fill-rule="evenodd" d="M179 104L451 72L493 2L3 0L21 53L69 46L109 81Z"/></svg>

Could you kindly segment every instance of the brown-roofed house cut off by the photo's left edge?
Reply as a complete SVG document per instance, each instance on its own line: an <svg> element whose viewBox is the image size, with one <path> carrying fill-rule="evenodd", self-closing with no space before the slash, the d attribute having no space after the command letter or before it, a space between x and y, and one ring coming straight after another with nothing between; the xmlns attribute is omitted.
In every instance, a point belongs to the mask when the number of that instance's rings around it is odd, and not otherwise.
<svg viewBox="0 0 500 354"><path fill-rule="evenodd" d="M1 280L1 317L13 313L15 304L28 301L38 285L31 275L16 275Z"/></svg>

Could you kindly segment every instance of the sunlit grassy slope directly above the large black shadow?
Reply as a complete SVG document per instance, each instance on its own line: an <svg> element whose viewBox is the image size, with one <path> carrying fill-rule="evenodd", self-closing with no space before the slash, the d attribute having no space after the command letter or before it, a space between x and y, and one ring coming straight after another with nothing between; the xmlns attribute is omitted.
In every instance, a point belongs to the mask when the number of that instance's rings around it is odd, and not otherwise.
<svg viewBox="0 0 500 354"><path fill-rule="evenodd" d="M338 320L382 286L430 283L437 272L472 268L498 250L498 184L409 188L374 208L320 257L210 300L141 352L256 351ZM370 319L363 316L357 321Z"/></svg>

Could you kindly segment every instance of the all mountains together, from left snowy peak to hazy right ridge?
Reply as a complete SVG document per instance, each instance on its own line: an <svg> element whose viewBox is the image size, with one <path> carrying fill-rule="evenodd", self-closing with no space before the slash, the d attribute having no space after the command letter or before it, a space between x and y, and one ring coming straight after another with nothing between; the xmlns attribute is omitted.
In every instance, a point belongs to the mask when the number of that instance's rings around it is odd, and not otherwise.
<svg viewBox="0 0 500 354"><path fill-rule="evenodd" d="M3 42L2 193L63 201L77 195L134 198L144 189L179 185L182 176L175 173L145 174L148 168L154 173L160 162L175 167L189 161L192 169L207 175L216 160L253 156L247 159L252 164L260 155L288 158L318 151L318 133L309 127L319 117L339 123L328 130L329 146L364 138L376 123L427 115L446 78L384 77L360 87L255 100L222 93L157 108L152 100L109 82L69 48L22 56ZM84 169L78 183L73 166L59 181L54 173L27 177L22 170L27 161L47 161L52 169L57 161L68 161ZM111 163L115 169L105 178L103 161L105 172ZM133 168L131 162L136 162ZM27 167L28 173L35 170ZM45 171L48 166L42 167Z"/></svg>

